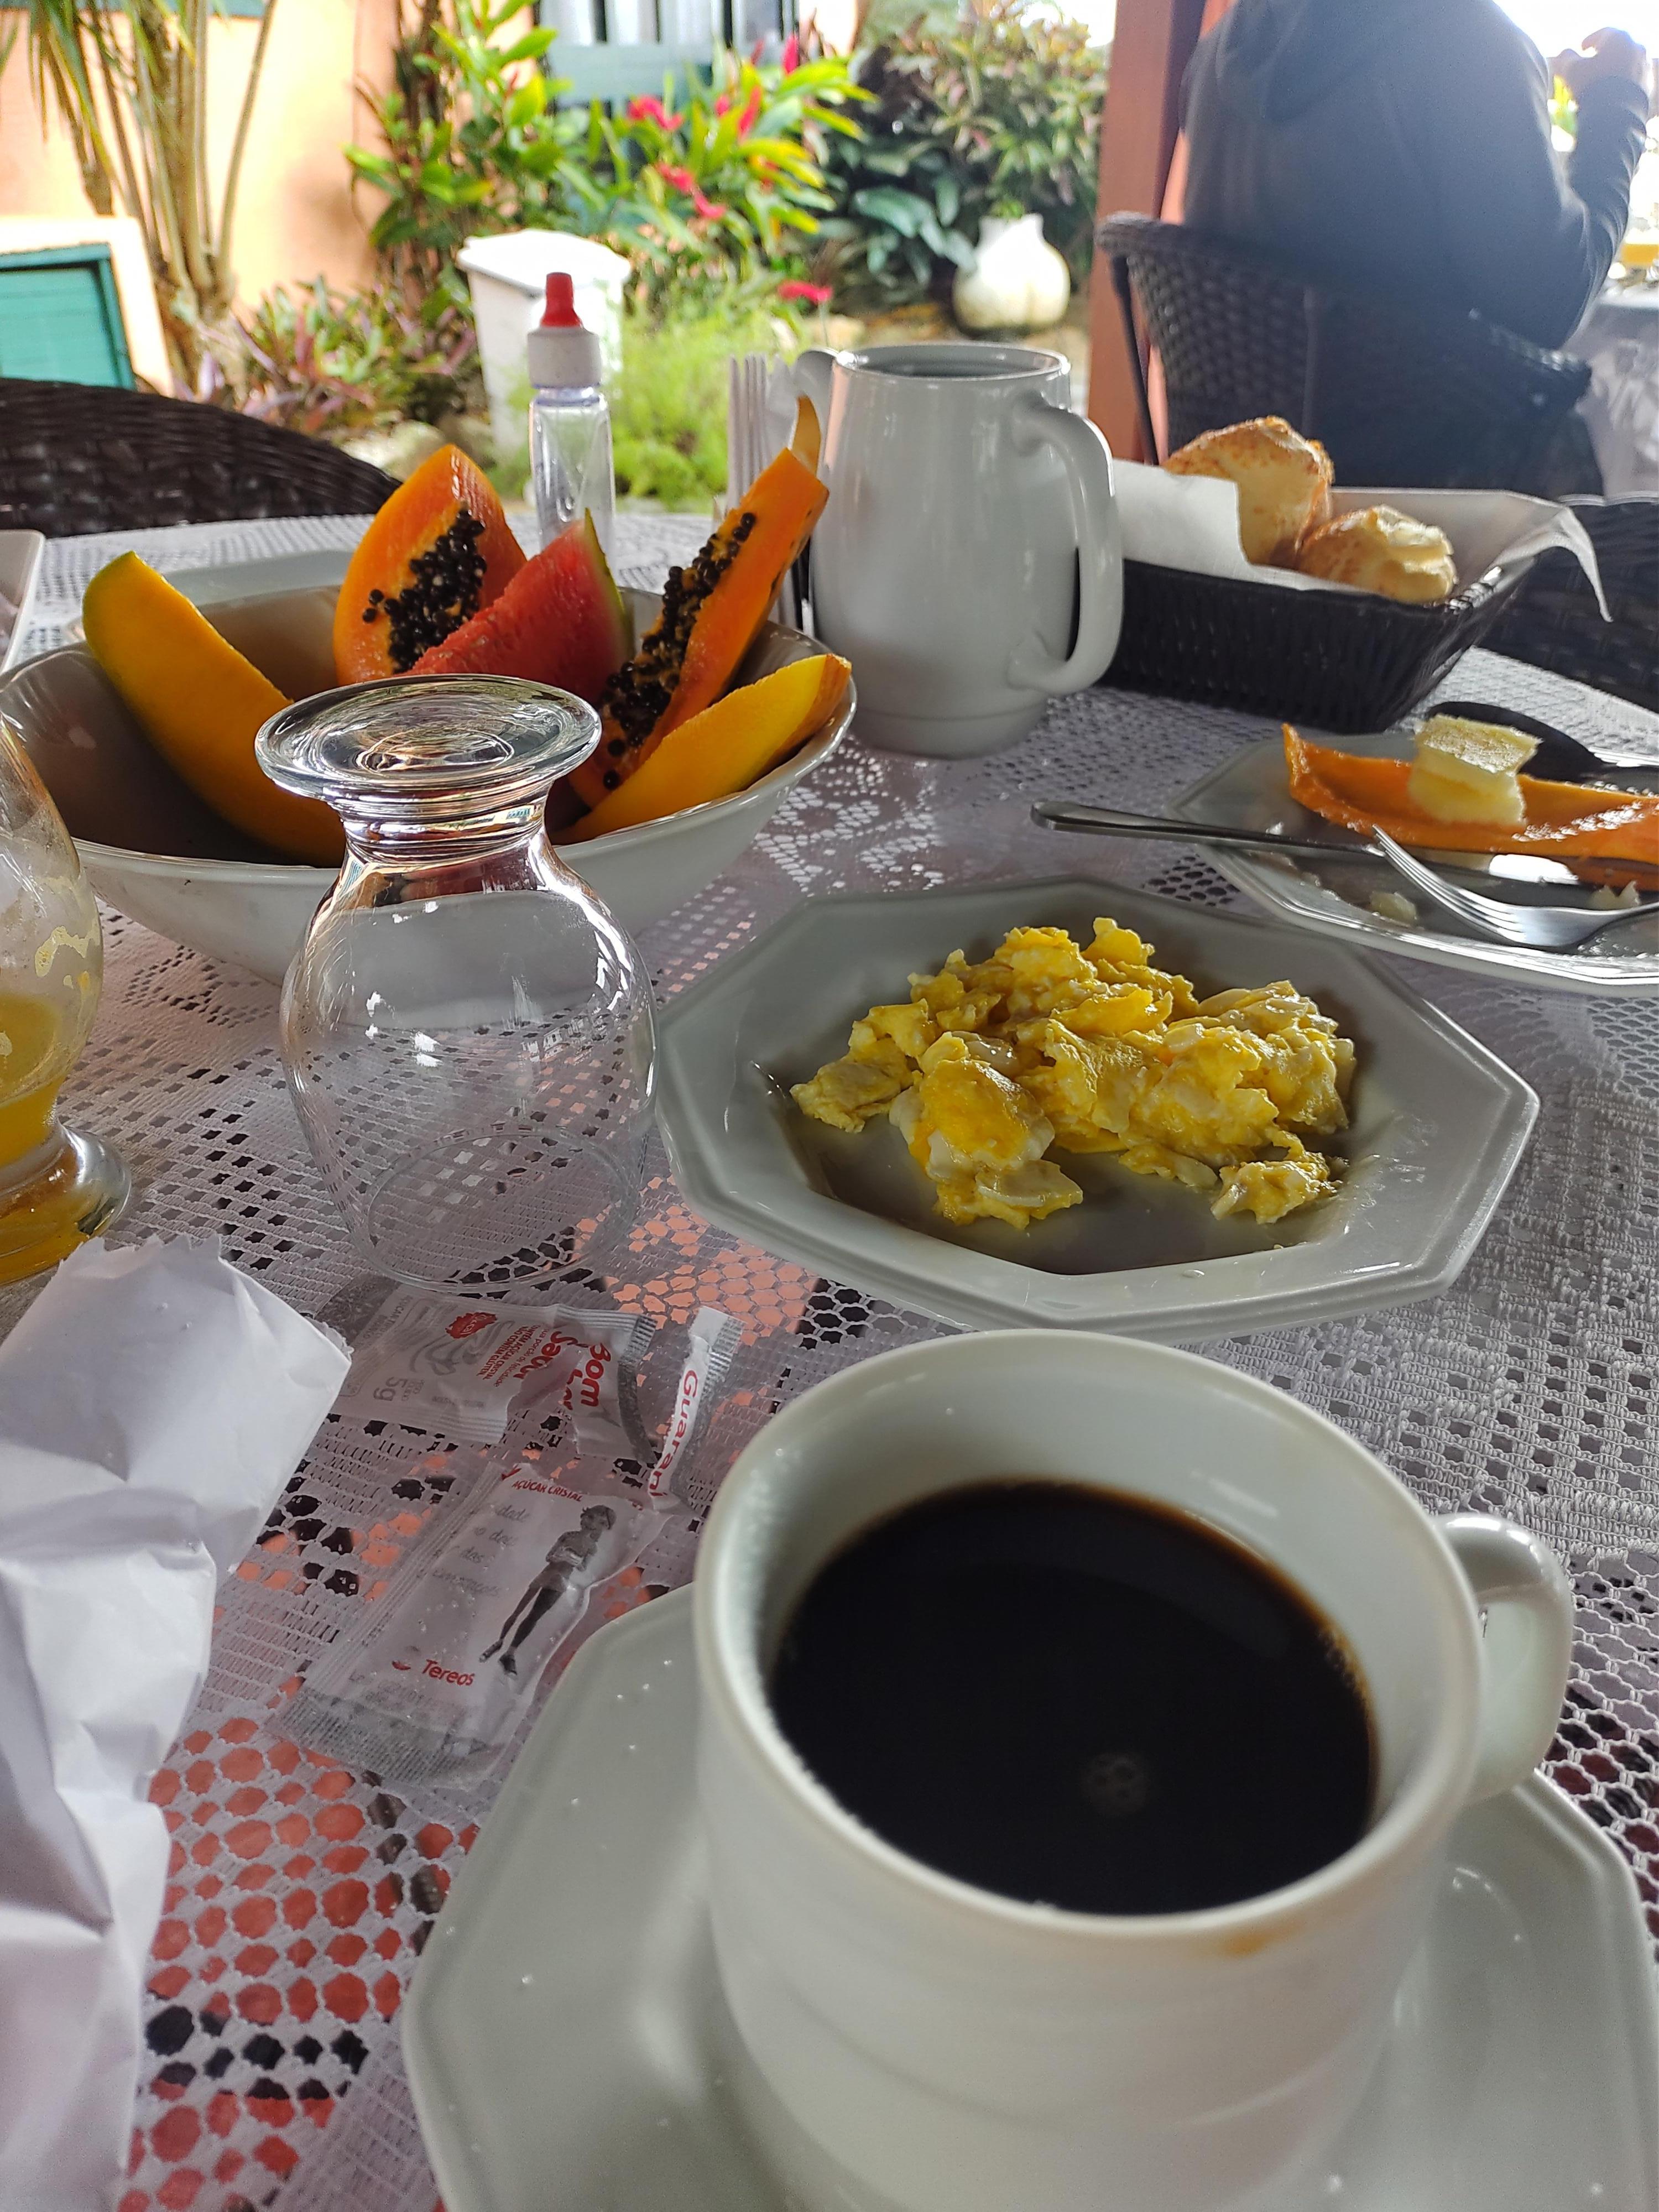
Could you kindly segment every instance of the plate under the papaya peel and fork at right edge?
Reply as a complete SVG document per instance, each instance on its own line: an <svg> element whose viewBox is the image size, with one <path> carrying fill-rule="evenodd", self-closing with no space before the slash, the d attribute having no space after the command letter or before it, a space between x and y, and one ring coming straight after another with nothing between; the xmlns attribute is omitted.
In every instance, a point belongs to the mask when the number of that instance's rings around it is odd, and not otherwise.
<svg viewBox="0 0 1659 2212"><path fill-rule="evenodd" d="M1400 723L1374 737L1343 739L1347 752L1378 752L1411 759L1413 726ZM1659 750L1655 752L1659 768ZM1256 905L1301 929L1340 938L1354 951L1405 953L1409 960L1431 960L1436 967L1467 969L1471 975L1493 975L1540 991L1588 991L1601 998L1644 998L1659 991L1659 916L1632 920L1624 929L1571 953L1535 953L1524 945L1493 945L1473 936L1451 914L1436 911L1413 896L1420 909L1416 922L1396 922L1371 909L1378 891L1402 894L1405 885L1385 860L1369 860L1354 849L1345 830L1323 821L1290 796L1285 748L1274 739L1245 745L1208 776L1199 776L1170 814L1192 823L1217 823L1232 830L1276 830L1283 836L1329 843L1329 860L1281 858L1279 854L1232 852L1208 845L1206 860L1248 891ZM1546 905L1586 905L1590 894L1579 885L1540 885L1504 878L1498 854L1460 856L1460 869L1493 876L1495 898L1535 898ZM1433 856L1429 856L1433 860Z"/></svg>

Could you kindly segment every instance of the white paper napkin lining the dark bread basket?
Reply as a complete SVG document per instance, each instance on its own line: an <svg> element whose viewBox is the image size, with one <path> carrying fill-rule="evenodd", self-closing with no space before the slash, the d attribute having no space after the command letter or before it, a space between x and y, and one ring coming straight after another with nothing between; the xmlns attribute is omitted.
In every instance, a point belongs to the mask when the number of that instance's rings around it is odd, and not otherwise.
<svg viewBox="0 0 1659 2212"><path fill-rule="evenodd" d="M1192 575L1239 575L1252 584L1283 584L1290 591L1345 591L1354 584L1332 584L1318 575L1292 568L1263 568L1243 557L1239 542L1239 487L1217 476L1170 476L1139 460L1113 460L1117 513L1124 524L1124 560L1144 560L1155 568L1188 568ZM1360 507L1394 507L1418 522L1431 522L1451 540L1458 564L1458 588L1467 588L1491 571L1509 571L1520 562L1564 546L1575 555L1595 591L1601 615L1608 602L1590 535L1571 507L1533 500L1522 491L1400 491L1343 489L1332 493L1332 513L1347 515ZM1365 593L1363 597L1369 597Z"/></svg>

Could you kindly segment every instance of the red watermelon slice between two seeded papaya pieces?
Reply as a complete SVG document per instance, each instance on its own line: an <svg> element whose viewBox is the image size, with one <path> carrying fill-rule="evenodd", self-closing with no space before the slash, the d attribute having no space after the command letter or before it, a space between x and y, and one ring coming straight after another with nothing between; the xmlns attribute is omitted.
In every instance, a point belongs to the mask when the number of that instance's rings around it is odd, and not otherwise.
<svg viewBox="0 0 1659 2212"><path fill-rule="evenodd" d="M593 515L582 515L526 560L498 599L422 653L409 675L529 677L597 706L630 648L628 611Z"/></svg>

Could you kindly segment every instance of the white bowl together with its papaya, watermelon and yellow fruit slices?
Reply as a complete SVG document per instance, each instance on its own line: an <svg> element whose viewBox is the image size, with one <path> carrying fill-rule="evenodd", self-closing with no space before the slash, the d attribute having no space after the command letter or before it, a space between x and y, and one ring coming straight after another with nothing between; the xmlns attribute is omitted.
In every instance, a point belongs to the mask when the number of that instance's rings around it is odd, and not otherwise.
<svg viewBox="0 0 1659 2212"><path fill-rule="evenodd" d="M338 860L338 823L268 785L261 721L376 675L524 675L602 714L549 832L628 929L719 876L843 739L852 675L770 619L823 509L785 449L661 595L619 591L586 518L526 557L489 484L434 456L354 553L168 584L137 555L82 604L84 644L0 681L95 889L133 920L279 980ZM495 513L500 509L495 507ZM294 810L301 812L294 812Z"/></svg>

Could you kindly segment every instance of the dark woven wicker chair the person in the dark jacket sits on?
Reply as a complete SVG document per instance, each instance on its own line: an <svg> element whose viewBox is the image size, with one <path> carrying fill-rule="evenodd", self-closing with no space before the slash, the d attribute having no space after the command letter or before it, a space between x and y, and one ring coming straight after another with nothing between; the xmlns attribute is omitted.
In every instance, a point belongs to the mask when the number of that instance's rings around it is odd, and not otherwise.
<svg viewBox="0 0 1659 2212"><path fill-rule="evenodd" d="M1338 484L1599 489L1559 476L1590 369L1478 314L1343 292L1146 215L1097 232L1135 363L1141 436L1157 453L1135 307L1164 363L1170 447L1276 414L1321 438ZM1582 440L1588 458L1588 436Z"/></svg>

